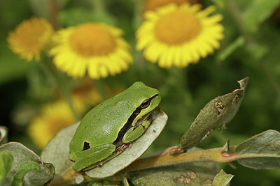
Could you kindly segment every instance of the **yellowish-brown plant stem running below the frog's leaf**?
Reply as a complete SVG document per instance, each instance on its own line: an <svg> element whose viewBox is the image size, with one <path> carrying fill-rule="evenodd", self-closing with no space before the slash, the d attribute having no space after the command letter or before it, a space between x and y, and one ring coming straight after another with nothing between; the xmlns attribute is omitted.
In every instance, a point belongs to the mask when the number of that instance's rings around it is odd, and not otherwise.
<svg viewBox="0 0 280 186"><path fill-rule="evenodd" d="M170 147L165 149L163 152L157 153L155 155L149 157L143 157L139 160L136 160L127 166L123 171L120 171L125 177L130 176L130 172L132 171L141 171L145 169L157 168L161 166L171 166L176 164L182 164L187 162L232 162L239 159L244 158L254 158L254 157L262 157L259 154L237 154L235 153L236 146L230 146L229 150L226 152L223 148L212 148L209 150L200 150L196 152L190 153L181 153L179 155L170 155L170 150L176 147ZM263 155L263 157L267 157ZM56 177L50 185L64 185L64 184L73 184L73 179L78 176L79 173L70 169L64 175ZM95 180L94 178L90 178L82 173L86 181ZM106 180L120 181L121 178L118 174L113 175L111 177L106 178Z"/></svg>

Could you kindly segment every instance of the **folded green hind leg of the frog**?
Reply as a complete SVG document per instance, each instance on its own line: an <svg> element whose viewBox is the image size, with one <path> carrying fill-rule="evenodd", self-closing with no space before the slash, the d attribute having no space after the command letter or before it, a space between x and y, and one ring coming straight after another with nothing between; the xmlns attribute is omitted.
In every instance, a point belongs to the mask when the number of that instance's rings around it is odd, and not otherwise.
<svg viewBox="0 0 280 186"><path fill-rule="evenodd" d="M115 150L116 146L113 144L105 144L80 151L75 154L76 162L73 164L73 169L75 171L82 171L86 167L96 164L97 162L104 160L106 157L109 157Z"/></svg>

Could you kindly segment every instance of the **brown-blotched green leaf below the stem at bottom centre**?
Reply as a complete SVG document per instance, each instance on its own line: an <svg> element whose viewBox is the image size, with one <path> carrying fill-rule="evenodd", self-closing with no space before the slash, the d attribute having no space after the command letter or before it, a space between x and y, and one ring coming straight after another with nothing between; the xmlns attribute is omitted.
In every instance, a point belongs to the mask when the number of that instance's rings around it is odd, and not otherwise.
<svg viewBox="0 0 280 186"><path fill-rule="evenodd" d="M219 171L216 162L190 162L130 173L133 185L204 185Z"/></svg>

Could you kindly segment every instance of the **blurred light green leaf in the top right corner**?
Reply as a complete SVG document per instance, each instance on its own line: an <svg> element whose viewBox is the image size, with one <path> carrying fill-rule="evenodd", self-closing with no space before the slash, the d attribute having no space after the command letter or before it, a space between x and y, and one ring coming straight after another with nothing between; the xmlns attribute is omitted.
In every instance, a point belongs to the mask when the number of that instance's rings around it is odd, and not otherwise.
<svg viewBox="0 0 280 186"><path fill-rule="evenodd" d="M274 13L276 8L280 6L279 0L253 0L250 1L249 6L246 8L243 17L244 25L248 31L258 31L258 26Z"/></svg>

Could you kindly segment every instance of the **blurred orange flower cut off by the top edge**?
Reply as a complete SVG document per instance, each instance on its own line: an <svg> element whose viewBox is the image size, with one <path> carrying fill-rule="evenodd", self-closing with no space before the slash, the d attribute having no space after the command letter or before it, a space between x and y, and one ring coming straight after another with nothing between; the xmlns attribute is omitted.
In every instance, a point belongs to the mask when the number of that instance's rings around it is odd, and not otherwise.
<svg viewBox="0 0 280 186"><path fill-rule="evenodd" d="M144 11L155 10L156 8L166 6L169 3L176 3L176 5L181 5L183 3L195 4L200 3L200 0L146 0Z"/></svg>

